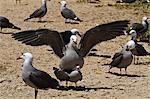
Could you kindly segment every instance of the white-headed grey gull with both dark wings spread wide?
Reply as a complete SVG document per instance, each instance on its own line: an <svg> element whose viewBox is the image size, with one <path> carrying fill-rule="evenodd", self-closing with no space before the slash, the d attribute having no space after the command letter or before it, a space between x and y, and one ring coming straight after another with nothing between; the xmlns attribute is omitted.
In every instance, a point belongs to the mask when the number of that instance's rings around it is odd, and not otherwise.
<svg viewBox="0 0 150 99"><path fill-rule="evenodd" d="M98 25L85 32L77 44L75 35L70 37L70 43L65 46L59 32L49 29L38 31L26 31L12 34L15 40L26 45L39 46L49 45L54 53L61 59L59 67L63 70L74 70L76 66L83 67L84 57L96 44L124 35L124 30L128 27L128 20L114 21L107 24Z"/></svg>

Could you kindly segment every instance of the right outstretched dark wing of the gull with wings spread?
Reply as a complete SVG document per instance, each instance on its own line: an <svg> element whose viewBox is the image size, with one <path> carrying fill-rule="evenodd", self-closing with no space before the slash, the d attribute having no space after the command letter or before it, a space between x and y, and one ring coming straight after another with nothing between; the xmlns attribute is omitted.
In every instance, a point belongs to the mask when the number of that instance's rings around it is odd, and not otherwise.
<svg viewBox="0 0 150 99"><path fill-rule="evenodd" d="M107 24L98 25L84 34L80 41L80 54L85 57L90 49L97 43L107 41L116 36L124 35L124 30L128 27L129 21L114 21Z"/></svg>

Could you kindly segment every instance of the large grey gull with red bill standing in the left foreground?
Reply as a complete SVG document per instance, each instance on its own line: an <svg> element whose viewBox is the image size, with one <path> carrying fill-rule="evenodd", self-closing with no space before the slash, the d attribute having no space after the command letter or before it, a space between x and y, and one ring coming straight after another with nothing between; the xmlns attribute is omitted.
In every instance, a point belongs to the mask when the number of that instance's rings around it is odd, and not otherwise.
<svg viewBox="0 0 150 99"><path fill-rule="evenodd" d="M38 89L58 88L59 82L44 71L32 66L33 56L31 53L24 53L17 59L24 59L22 65L22 79L30 87L35 89L35 99Z"/></svg>

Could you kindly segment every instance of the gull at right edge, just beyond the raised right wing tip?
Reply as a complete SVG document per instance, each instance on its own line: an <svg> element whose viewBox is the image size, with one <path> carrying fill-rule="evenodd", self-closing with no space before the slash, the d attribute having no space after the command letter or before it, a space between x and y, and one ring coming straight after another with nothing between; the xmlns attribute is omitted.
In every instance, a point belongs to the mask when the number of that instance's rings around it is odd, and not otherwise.
<svg viewBox="0 0 150 99"><path fill-rule="evenodd" d="M133 23L132 26L129 29L129 32L131 30L135 30L137 33L137 37L139 37L140 35L144 34L145 32L147 32L148 30L148 18L146 16L144 16L142 18L142 22L141 23Z"/></svg>

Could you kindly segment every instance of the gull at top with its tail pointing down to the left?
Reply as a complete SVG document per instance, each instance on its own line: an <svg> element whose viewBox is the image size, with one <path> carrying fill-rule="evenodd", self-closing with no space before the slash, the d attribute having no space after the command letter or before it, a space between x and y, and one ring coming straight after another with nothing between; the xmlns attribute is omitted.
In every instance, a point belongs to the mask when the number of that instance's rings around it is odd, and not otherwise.
<svg viewBox="0 0 150 99"><path fill-rule="evenodd" d="M27 21L32 18L39 18L39 22L41 21L41 18L44 17L47 13L47 5L46 5L47 0L42 0L42 6L35 10L28 18L26 18L24 21ZM50 1L50 0L49 0Z"/></svg>

